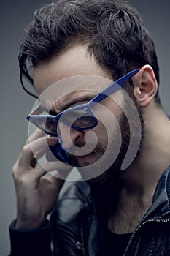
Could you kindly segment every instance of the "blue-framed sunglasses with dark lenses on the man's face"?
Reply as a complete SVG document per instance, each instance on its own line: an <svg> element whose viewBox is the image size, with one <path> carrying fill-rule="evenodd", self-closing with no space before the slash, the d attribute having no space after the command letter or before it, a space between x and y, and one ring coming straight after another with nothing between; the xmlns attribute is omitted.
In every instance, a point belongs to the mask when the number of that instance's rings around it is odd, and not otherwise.
<svg viewBox="0 0 170 256"><path fill-rule="evenodd" d="M98 118L92 110L93 106L115 93L115 91L123 88L127 80L137 72L139 72L139 69L128 72L128 74L111 83L87 103L63 110L56 116L47 114L47 112L43 113L41 106L39 106L27 116L27 119L35 124L36 127L52 136L57 136L58 121L77 130L93 129L98 124Z"/></svg>

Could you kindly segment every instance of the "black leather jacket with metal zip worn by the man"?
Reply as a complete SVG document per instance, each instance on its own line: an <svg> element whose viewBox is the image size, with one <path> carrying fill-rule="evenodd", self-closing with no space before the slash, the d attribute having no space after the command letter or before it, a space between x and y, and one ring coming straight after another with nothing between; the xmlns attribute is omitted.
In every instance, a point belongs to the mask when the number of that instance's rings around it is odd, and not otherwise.
<svg viewBox="0 0 170 256"><path fill-rule="evenodd" d="M170 167L161 176L152 206L134 230L123 256L170 255L169 200ZM51 222L53 253L50 250L50 222L28 231L15 230L12 223L11 256L107 256L104 255L103 230L93 207L90 188L84 182L74 183L67 189L53 211Z"/></svg>

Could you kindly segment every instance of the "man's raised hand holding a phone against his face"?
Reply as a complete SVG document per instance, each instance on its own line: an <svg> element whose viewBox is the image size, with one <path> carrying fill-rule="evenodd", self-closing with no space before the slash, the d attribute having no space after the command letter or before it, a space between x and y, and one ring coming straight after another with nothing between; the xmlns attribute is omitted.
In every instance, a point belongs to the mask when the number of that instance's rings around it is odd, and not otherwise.
<svg viewBox="0 0 170 256"><path fill-rule="evenodd" d="M12 167L18 203L16 228L34 229L45 222L63 186L64 181L61 178L66 178L72 169L69 165L63 167L59 161L46 162L43 167L37 164L36 159L45 154L47 146L58 143L58 138L47 138L42 135L43 132L38 129L28 138ZM55 170L55 176L47 175L52 170ZM62 170L65 177L61 177L62 172L59 173L57 170Z"/></svg>

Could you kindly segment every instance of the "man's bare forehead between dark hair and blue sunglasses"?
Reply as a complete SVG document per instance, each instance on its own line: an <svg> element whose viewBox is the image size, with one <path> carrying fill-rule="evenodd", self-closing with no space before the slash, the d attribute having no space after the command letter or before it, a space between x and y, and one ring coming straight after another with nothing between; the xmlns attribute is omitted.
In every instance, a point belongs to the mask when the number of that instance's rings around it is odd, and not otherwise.
<svg viewBox="0 0 170 256"><path fill-rule="evenodd" d="M88 53L87 45L69 48L34 68L34 85L45 105L94 94L110 83L112 78Z"/></svg>

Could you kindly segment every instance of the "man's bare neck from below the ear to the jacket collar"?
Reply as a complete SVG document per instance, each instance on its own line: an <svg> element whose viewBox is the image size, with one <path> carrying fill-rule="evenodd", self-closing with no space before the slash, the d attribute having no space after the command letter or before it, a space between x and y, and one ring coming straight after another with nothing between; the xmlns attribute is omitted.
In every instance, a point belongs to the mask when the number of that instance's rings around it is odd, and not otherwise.
<svg viewBox="0 0 170 256"><path fill-rule="evenodd" d="M144 140L133 165L123 175L117 208L110 211L107 227L131 233L152 205L158 181L170 165L170 121L157 108L144 113Z"/></svg>

